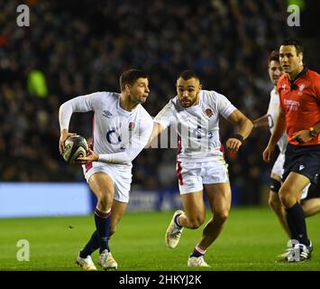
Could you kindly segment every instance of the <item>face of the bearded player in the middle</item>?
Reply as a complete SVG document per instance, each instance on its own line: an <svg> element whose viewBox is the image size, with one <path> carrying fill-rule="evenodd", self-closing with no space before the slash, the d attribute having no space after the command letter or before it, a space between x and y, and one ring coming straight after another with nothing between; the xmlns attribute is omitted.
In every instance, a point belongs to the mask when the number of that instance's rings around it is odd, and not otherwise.
<svg viewBox="0 0 320 289"><path fill-rule="evenodd" d="M201 84L198 79L181 79L177 80L178 100L182 107L192 107L199 102L199 92Z"/></svg>

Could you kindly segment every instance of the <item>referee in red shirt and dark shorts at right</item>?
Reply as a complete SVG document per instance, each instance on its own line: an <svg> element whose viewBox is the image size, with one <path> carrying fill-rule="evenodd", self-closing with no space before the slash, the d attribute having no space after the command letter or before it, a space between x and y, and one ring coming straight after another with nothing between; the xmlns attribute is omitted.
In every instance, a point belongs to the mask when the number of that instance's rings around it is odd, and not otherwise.
<svg viewBox="0 0 320 289"><path fill-rule="evenodd" d="M300 205L301 191L316 183L320 172L320 75L303 64L303 45L290 38L282 42L279 61L286 72L278 81L280 107L275 130L263 152L270 162L274 147L287 130L288 147L279 198L286 209L292 248L288 262L311 258L311 240Z"/></svg>

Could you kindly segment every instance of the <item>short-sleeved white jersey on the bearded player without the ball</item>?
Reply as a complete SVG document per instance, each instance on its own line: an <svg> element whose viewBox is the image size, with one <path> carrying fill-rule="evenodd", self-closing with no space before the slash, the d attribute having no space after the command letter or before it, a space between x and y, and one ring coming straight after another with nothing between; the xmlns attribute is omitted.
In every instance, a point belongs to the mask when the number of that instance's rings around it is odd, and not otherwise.
<svg viewBox="0 0 320 289"><path fill-rule="evenodd" d="M182 107L178 96L171 98L153 119L165 129L178 133L178 161L210 162L222 157L219 138L219 116L229 117L236 107L222 94L200 90L199 104Z"/></svg>

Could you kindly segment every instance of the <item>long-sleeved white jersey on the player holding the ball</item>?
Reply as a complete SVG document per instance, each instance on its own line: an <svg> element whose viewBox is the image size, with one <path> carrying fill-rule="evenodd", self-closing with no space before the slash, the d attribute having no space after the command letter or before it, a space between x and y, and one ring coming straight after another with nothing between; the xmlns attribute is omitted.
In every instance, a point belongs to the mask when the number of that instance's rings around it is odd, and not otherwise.
<svg viewBox="0 0 320 289"><path fill-rule="evenodd" d="M148 112L138 105L133 111L120 107L120 94L96 92L70 99L59 109L60 129L69 129L74 112L94 112L93 148L105 163L132 166L151 135L153 122Z"/></svg>

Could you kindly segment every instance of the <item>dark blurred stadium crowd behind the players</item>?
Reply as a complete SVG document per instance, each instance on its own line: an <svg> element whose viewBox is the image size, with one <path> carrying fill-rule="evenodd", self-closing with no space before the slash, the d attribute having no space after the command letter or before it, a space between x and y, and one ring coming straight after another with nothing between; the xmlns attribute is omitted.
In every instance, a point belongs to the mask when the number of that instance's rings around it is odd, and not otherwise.
<svg viewBox="0 0 320 289"><path fill-rule="evenodd" d="M0 180L84 181L59 155L59 105L94 91L119 91L123 70L150 75L144 107L154 117L176 95L179 72L195 70L255 119L265 114L272 84L270 51L290 36L282 0L25 1L30 27L18 27L19 1L0 4ZM296 35L297 36L297 35ZM76 115L70 131L89 137L91 118ZM224 120L221 139L231 135ZM241 203L258 203L269 182L262 162L267 131L254 131L229 158ZM176 149L146 149L133 163L133 190L177 187Z"/></svg>

